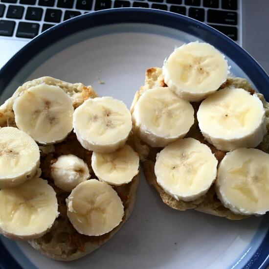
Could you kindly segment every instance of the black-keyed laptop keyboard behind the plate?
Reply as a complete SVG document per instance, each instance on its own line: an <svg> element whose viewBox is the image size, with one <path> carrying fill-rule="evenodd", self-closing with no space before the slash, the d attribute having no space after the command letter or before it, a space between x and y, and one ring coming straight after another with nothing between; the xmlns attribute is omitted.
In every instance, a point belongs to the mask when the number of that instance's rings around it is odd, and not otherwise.
<svg viewBox="0 0 269 269"><path fill-rule="evenodd" d="M237 0L0 0L0 36L31 39L88 12L115 7L167 10L194 18L238 41Z"/></svg>

